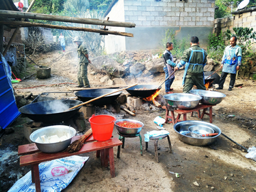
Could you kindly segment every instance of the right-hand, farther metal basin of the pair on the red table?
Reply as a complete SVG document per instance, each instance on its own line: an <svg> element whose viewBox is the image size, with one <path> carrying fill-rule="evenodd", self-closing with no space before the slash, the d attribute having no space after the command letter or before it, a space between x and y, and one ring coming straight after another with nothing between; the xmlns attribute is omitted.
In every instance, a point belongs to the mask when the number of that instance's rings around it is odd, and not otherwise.
<svg viewBox="0 0 256 192"><path fill-rule="evenodd" d="M217 105L225 97L225 94L217 91L190 90L190 92L191 94L200 95L201 97L203 97L200 102L206 105Z"/></svg>

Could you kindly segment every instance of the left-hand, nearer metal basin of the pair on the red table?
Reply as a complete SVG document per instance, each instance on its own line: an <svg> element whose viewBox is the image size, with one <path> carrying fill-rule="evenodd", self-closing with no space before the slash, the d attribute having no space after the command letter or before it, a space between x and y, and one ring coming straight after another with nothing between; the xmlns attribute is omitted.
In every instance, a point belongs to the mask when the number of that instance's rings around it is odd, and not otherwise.
<svg viewBox="0 0 256 192"><path fill-rule="evenodd" d="M202 99L199 95L193 95L190 93L173 93L164 95L166 102L171 106L176 106L181 110L189 110L196 107L199 101Z"/></svg>

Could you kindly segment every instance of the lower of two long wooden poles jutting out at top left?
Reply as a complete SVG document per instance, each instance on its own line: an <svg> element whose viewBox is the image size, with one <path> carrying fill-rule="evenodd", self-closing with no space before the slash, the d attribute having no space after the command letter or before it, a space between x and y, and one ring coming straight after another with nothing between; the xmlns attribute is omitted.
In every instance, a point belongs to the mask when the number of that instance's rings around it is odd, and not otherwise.
<svg viewBox="0 0 256 192"><path fill-rule="evenodd" d="M0 21L1 24L4 25L13 25L13 26L39 26L44 28L58 28L63 30L72 30L72 31L87 31L92 33L104 33L104 34L111 34L116 36L127 36L127 37L133 37L132 33L125 33L125 32L119 32L119 31L106 31L102 29L94 29L94 28L83 28L83 27L70 27L70 26L55 26L50 24L43 24L43 23L31 23L26 21Z"/></svg>

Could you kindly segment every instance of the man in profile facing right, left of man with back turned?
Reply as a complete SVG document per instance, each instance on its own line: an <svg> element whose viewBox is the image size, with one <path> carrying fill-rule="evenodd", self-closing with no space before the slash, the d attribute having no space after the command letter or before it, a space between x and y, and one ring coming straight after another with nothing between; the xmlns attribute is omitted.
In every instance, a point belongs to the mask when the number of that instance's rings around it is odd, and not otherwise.
<svg viewBox="0 0 256 192"><path fill-rule="evenodd" d="M171 90L174 90L171 88L171 84L174 82L174 74L171 75L171 73L174 72L174 67L176 66L176 63L174 63L173 55L171 55L171 51L174 49L173 43L166 43L166 50L164 50L163 58L164 58L164 73L165 78L168 78L165 82L165 90L167 94L171 94L174 92L171 92ZM169 75L171 75L169 77Z"/></svg>

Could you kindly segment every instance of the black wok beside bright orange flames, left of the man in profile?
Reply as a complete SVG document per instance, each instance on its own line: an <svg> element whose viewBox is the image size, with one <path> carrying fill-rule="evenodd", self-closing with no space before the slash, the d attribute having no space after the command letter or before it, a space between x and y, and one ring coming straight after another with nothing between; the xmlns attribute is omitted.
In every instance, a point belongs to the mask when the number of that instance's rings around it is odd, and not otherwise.
<svg viewBox="0 0 256 192"><path fill-rule="evenodd" d="M135 90L140 88L146 88L147 90ZM149 97L150 95L153 95L154 92L156 92L157 88L159 86L157 85L135 85L134 87L130 87L127 89L127 92L135 97ZM161 89L161 87L159 87Z"/></svg>

